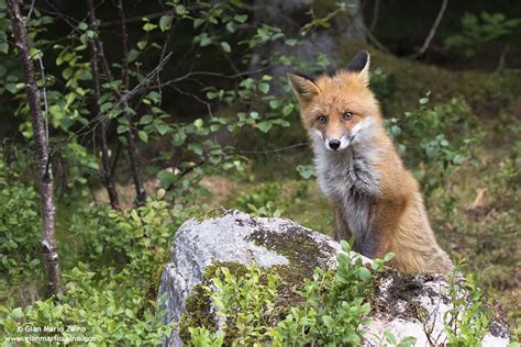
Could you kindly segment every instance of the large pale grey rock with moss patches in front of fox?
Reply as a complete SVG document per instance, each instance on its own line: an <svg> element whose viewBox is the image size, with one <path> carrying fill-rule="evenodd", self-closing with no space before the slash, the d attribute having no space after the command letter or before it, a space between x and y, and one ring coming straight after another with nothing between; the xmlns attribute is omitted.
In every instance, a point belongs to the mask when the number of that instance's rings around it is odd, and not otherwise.
<svg viewBox="0 0 521 347"><path fill-rule="evenodd" d="M165 320L176 326L165 345L182 345L177 326L187 299L197 295L195 289L212 265L286 267L290 271L281 272L286 277L282 280L301 284L315 267L336 267L339 251L340 245L330 237L288 220L217 210L187 221L176 234L171 262L166 265L159 286L158 298L165 300L163 307L167 312ZM370 260L364 258L364 262ZM288 291L291 289L287 287ZM380 345L386 331L392 332L398 340L415 337L415 346L443 345L445 313L453 307L447 289L448 282L441 276L399 275L392 270L384 273L372 298L372 323L365 327L365 345ZM462 289L458 295L466 292ZM492 317L484 345L506 346L509 340L508 327Z"/></svg>

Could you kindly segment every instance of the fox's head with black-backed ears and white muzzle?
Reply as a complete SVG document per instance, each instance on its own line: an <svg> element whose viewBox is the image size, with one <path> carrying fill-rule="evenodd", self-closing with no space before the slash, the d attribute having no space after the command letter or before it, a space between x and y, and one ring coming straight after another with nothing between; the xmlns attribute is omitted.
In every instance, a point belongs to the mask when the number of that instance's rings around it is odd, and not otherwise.
<svg viewBox="0 0 521 347"><path fill-rule="evenodd" d="M315 80L288 75L299 99L302 123L311 139L340 152L369 139L381 124L378 102L369 90L369 53L358 53L345 70Z"/></svg>

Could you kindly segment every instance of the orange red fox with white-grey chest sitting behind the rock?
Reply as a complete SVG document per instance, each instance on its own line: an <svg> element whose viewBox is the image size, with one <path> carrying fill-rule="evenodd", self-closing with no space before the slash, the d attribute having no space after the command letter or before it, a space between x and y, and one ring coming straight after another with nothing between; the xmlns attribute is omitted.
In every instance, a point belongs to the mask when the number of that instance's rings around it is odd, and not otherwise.
<svg viewBox="0 0 521 347"><path fill-rule="evenodd" d="M358 53L334 76L288 78L311 139L319 184L333 205L335 239L353 236L354 250L369 258L392 251L390 265L399 271L451 271L418 181L403 167L368 88L369 53Z"/></svg>

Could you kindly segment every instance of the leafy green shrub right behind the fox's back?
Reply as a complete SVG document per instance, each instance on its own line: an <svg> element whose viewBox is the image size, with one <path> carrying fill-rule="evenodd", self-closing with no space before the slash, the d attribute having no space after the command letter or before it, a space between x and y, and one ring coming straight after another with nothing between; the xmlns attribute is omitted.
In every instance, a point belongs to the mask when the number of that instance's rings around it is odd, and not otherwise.
<svg viewBox="0 0 521 347"><path fill-rule="evenodd" d="M445 189L448 178L463 164L476 165L473 143L483 141L484 133L464 99L453 98L433 107L429 101L428 93L419 100L418 109L406 112L401 119L388 120L388 133L398 143L426 198L444 189L439 203L452 212L455 201Z"/></svg>

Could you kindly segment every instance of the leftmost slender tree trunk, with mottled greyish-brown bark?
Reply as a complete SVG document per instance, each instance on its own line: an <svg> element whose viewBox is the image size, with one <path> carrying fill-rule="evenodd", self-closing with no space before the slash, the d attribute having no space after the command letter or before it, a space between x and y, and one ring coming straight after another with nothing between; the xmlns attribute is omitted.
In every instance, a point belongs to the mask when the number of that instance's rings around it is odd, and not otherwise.
<svg viewBox="0 0 521 347"><path fill-rule="evenodd" d="M47 286L51 293L62 291L59 280L59 261L56 249L55 235L55 206L53 201L53 170L48 150L48 134L44 126L42 110L40 107L40 90L36 87L36 77L33 61L27 44L27 32L25 29L20 7L16 0L8 0L9 15L13 27L14 43L19 52L20 61L25 79L29 108L31 111L31 123L34 132L36 158L38 165L40 193L42 195L43 213L43 239L42 250L47 276Z"/></svg>

